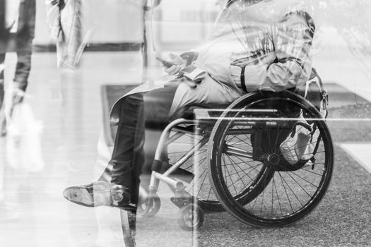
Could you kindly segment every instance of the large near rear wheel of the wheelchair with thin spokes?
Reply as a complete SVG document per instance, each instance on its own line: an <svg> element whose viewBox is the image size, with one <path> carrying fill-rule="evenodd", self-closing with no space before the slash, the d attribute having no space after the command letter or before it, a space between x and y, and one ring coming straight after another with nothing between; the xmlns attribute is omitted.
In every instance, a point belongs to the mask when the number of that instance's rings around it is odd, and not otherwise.
<svg viewBox="0 0 371 247"><path fill-rule="evenodd" d="M304 128L296 124L299 119L315 133L306 144L312 152L291 162L280 145L294 126ZM322 200L331 180L329 129L317 109L293 92L240 98L216 122L209 147L208 176L218 200L254 227L283 227L302 219Z"/></svg>

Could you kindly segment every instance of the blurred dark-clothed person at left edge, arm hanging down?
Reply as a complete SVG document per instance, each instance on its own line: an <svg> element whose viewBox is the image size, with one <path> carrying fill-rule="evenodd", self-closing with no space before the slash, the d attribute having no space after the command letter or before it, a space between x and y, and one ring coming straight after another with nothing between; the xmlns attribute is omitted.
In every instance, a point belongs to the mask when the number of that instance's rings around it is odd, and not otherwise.
<svg viewBox="0 0 371 247"><path fill-rule="evenodd" d="M0 0L0 106L4 104L4 61L6 52L16 52L16 74L11 87L13 104L23 100L31 68L35 35L35 0ZM4 117L2 133L5 132Z"/></svg>

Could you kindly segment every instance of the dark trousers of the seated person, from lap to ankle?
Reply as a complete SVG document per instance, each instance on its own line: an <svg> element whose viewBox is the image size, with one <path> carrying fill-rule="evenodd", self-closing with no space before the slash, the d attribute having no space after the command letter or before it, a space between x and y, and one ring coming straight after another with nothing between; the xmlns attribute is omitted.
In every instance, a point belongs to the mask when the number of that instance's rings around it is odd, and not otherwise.
<svg viewBox="0 0 371 247"><path fill-rule="evenodd" d="M129 95L122 100L112 158L99 180L129 188L132 203L138 199L142 171L148 175L151 172L155 148L160 138L158 134L152 136L151 140L146 139L146 127L165 128L176 90L177 86L159 88ZM143 148L145 140L151 142L151 148L146 153ZM144 188L148 187L148 180L145 179L142 184Z"/></svg>

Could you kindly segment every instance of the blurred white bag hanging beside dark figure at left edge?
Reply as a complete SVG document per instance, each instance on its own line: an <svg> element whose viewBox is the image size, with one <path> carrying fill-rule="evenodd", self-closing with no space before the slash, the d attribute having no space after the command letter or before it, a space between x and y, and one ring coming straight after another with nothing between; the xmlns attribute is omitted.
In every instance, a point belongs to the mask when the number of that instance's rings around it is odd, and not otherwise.
<svg viewBox="0 0 371 247"><path fill-rule="evenodd" d="M13 169L40 171L44 168L41 148L42 123L28 103L14 105L6 116L6 162Z"/></svg>

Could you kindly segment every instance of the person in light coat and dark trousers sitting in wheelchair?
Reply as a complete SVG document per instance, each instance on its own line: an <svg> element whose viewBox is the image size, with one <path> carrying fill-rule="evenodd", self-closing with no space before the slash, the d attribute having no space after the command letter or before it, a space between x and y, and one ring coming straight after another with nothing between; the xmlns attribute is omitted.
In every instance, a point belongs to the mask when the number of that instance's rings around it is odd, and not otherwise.
<svg viewBox="0 0 371 247"><path fill-rule="evenodd" d="M230 104L245 92L281 91L305 83L312 66L314 23L299 2L229 1L210 42L191 53L198 55L192 66L207 72L201 83L179 76L186 61L184 56L171 56L169 61L177 65L165 71L177 75L174 80L152 90L141 85L114 105L111 120L118 130L112 159L100 179L66 188L64 196L89 207L135 204L144 164L145 126L158 123L163 128L192 105Z"/></svg>

